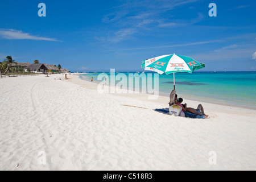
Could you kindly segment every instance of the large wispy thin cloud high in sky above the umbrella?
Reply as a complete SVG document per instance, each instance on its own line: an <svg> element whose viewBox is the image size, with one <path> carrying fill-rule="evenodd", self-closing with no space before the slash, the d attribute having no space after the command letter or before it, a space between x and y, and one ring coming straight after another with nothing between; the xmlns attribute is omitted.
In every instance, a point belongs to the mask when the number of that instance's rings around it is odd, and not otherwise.
<svg viewBox="0 0 256 182"><path fill-rule="evenodd" d="M107 43L118 43L131 38L135 34L144 34L144 32L152 30L153 27L168 28L195 24L204 18L202 14L199 13L195 19L180 23L179 19L170 22L166 19L166 13L170 18L172 16L170 14L171 10L196 1L199 0L161 0L150 3L148 0L125 1L122 5L113 7L111 13L102 18L102 23L112 24L112 27L117 28L116 31L104 32L101 35L105 36L96 36L96 39Z"/></svg>

